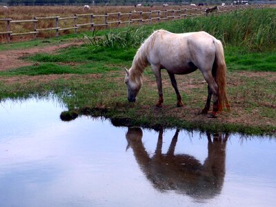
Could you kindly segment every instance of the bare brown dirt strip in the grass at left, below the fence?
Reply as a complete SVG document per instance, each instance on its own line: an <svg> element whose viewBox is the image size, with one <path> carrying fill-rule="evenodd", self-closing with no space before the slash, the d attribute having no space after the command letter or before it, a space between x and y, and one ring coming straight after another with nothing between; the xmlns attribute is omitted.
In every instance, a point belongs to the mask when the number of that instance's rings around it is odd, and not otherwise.
<svg viewBox="0 0 276 207"><path fill-rule="evenodd" d="M0 51L0 71L9 70L12 68L19 68L21 66L30 66L32 62L22 60L22 57L33 55L35 53L43 52L49 53L61 48L67 48L69 46L77 46L83 43L82 41L72 41L70 43L62 43L55 46L45 46L37 48L28 48L22 50L8 50Z"/></svg>

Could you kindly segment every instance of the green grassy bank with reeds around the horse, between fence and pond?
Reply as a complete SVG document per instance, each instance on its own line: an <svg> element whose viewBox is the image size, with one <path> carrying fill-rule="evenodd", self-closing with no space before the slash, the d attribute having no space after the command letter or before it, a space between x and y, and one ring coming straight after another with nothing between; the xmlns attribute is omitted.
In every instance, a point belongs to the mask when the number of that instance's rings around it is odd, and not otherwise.
<svg viewBox="0 0 276 207"><path fill-rule="evenodd" d="M47 41L2 44L0 56L12 48L17 50L10 51L11 54L25 48L21 56L25 53L23 63L29 66L7 67L0 72L0 99L55 94L68 107L67 114L104 115L119 120L119 124L275 135L275 15L275 9L271 8L247 10L217 17L71 34ZM217 119L198 115L207 96L206 82L199 72L177 76L185 105L177 108L175 92L164 71L164 107L155 108L157 87L149 67L144 72L144 86L137 101L128 103L123 68L130 68L141 41L159 28L172 32L205 30L221 39L228 66L230 112L221 112ZM64 43L68 44L67 48L47 50L50 46L62 47ZM48 53L41 53L43 50Z"/></svg>

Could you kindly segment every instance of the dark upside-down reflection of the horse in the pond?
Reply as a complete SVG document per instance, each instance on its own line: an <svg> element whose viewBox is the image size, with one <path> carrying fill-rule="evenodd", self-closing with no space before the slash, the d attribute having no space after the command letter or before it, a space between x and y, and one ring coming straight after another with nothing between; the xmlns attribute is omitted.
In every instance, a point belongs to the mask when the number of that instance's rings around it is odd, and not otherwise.
<svg viewBox="0 0 276 207"><path fill-rule="evenodd" d="M131 147L137 163L158 190L176 190L177 193L189 195L195 199L211 199L221 192L224 184L226 141L228 135L207 134L208 157L201 164L190 155L175 155L179 130L166 154L162 154L163 130L159 130L157 147L153 157L148 155L142 143L141 128L128 128L126 139Z"/></svg>

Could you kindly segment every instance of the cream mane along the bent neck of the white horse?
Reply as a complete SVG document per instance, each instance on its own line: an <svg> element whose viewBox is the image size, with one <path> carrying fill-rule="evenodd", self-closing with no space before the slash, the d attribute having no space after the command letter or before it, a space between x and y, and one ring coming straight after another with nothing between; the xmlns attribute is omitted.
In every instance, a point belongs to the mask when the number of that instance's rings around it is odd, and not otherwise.
<svg viewBox="0 0 276 207"><path fill-rule="evenodd" d="M150 48L155 43L155 34L159 32L160 30L157 30L153 32L150 37L148 37L144 43L141 44L140 48L137 50L136 55L132 61L132 66L130 68L130 79L138 84L138 86L141 86L141 76L144 72L144 69L146 66L148 66L148 52Z"/></svg>

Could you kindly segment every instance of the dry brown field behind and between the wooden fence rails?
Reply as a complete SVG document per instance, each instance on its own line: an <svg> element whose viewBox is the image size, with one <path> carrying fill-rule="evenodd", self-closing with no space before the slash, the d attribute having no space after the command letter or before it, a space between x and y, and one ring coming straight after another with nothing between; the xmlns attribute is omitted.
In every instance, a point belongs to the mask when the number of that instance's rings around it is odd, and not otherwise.
<svg viewBox="0 0 276 207"><path fill-rule="evenodd" d="M90 10L83 10L82 6L14 6L8 8L8 10L3 10L1 8L0 10L0 19L12 19L12 21L21 21L21 20L29 20L29 22L24 23L10 23L10 31L13 33L22 33L22 32L33 32L34 28L37 30L43 30L46 28L71 28L69 30L59 30L59 35L63 34L69 34L74 33L75 29L72 29L72 27L75 27L79 24L84 23L90 23L91 19L90 16L83 16L83 14L106 14L106 13L113 13L110 14L108 17L108 22L113 22L108 25L109 28L115 28L118 26L115 21L117 21L118 17L117 14L114 14L115 12L121 12L119 19L120 21L123 21L124 23L119 24L119 27L124 27L128 23L126 21L129 21L131 14L131 19L149 19L153 18L151 23L156 23L157 17L165 18L170 17L171 20L173 16L177 16L180 14L186 14L188 16L195 16L195 15L204 15L204 10L206 7L199 7L194 8L191 6L143 6L141 8L135 8L134 6L93 6L90 8ZM220 8L220 12L226 11L226 10L234 10L238 9L239 7L224 7ZM249 8L249 6L247 7ZM180 11L182 9L182 11ZM187 9L185 12L183 9ZM192 10L193 9L193 10ZM152 14L145 13L140 14L139 11L148 12L150 10L161 10L165 11L168 10L167 13L165 12L153 12ZM178 12L172 12L172 10L178 10ZM124 13L124 15L123 15ZM218 13L218 12L216 12ZM78 15L77 19L74 19L75 15ZM34 23L32 20L37 18L38 20ZM43 17L58 17L59 19L58 23L56 23L56 19L41 19ZM68 17L71 17L71 19L67 19ZM63 18L63 19L62 19ZM154 19L155 18L155 19ZM184 19L184 16L181 16L181 19ZM104 24L105 23L105 17L93 17L92 21L95 24ZM166 21L165 19L161 21ZM145 21L144 23L150 23L150 21ZM134 21L132 24L139 24L139 21ZM104 26L97 26L97 29L103 29ZM7 30L7 21L0 21L0 32L6 32ZM77 29L76 32L83 32L90 30L90 25L81 26ZM6 42L7 38L5 37L6 34L0 35L0 42ZM20 36L12 36L12 41L24 41L26 39L32 39L33 34L28 35L20 35ZM48 37L55 37L55 30L46 30L46 31L40 31L39 34L37 34L37 37L40 38L48 38Z"/></svg>

